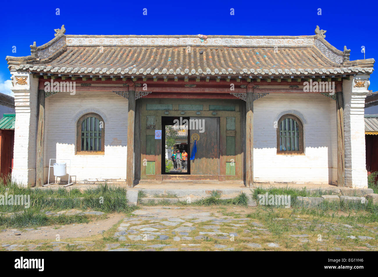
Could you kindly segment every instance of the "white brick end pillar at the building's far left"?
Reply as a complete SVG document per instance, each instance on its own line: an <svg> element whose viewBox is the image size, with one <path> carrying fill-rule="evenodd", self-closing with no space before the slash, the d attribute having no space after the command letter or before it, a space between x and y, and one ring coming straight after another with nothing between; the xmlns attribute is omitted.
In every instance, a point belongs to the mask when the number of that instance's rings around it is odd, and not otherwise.
<svg viewBox="0 0 378 277"><path fill-rule="evenodd" d="M22 186L34 186L36 184L38 79L25 72L12 74L27 77L26 85L15 84L12 88L16 114L12 179Z"/></svg>

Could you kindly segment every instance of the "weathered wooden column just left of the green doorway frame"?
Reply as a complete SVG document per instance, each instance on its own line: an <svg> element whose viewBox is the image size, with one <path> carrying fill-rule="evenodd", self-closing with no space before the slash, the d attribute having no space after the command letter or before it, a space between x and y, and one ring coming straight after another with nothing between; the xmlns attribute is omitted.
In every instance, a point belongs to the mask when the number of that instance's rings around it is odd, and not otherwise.
<svg viewBox="0 0 378 277"><path fill-rule="evenodd" d="M134 135L135 135L135 87L129 84L129 107L127 117L127 163L126 183L132 188L134 185Z"/></svg>

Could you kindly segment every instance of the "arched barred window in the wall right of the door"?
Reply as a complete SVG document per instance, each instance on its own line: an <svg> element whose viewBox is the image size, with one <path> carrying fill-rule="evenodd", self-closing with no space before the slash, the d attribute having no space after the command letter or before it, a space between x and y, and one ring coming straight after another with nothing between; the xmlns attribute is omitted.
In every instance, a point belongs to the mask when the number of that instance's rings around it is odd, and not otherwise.
<svg viewBox="0 0 378 277"><path fill-rule="evenodd" d="M277 126L277 154L303 154L303 124L294 115L283 115Z"/></svg>

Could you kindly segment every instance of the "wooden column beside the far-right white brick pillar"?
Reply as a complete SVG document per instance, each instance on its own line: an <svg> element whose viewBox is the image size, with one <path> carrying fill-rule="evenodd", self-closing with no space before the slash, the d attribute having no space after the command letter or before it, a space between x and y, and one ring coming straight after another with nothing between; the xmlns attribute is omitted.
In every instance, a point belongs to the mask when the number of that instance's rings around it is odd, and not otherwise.
<svg viewBox="0 0 378 277"><path fill-rule="evenodd" d="M337 126L337 186L345 184L345 145L344 145L344 98L342 84L336 85L336 126Z"/></svg>

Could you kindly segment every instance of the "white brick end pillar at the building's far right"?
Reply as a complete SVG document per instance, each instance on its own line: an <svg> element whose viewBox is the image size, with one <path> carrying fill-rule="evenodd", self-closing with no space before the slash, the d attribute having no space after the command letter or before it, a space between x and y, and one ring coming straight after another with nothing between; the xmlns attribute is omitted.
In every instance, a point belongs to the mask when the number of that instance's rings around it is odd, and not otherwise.
<svg viewBox="0 0 378 277"><path fill-rule="evenodd" d="M368 75L355 79L366 80ZM345 185L367 187L364 107L367 87L354 88L354 80L344 80Z"/></svg>

